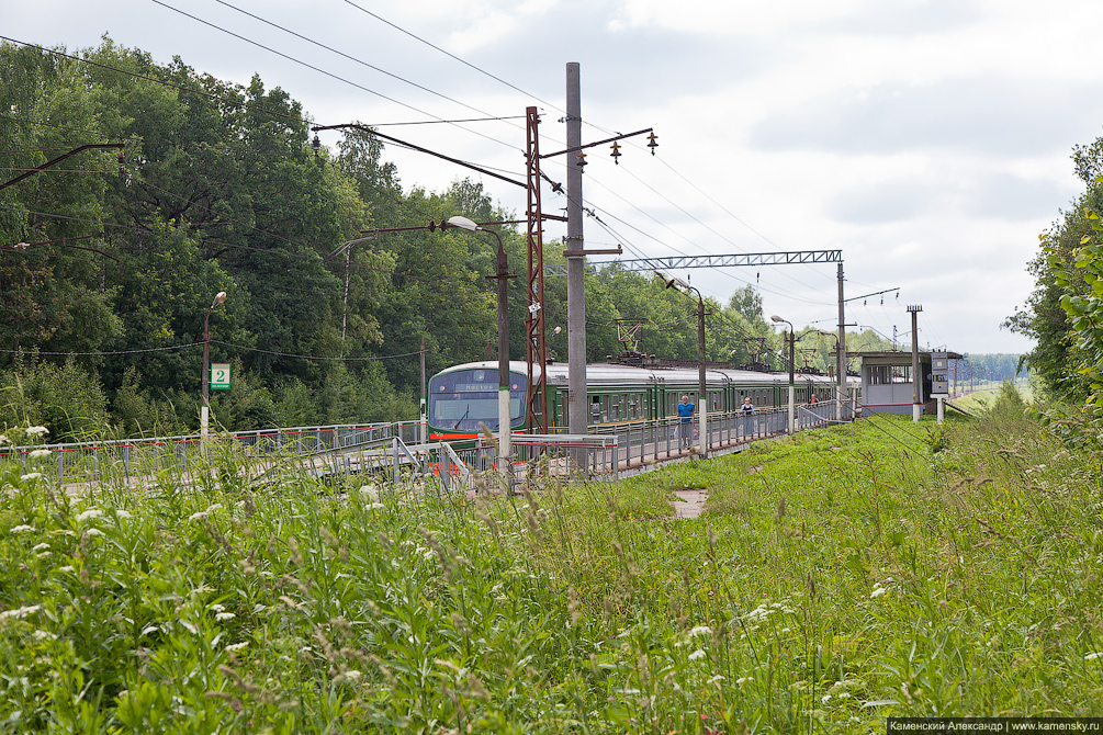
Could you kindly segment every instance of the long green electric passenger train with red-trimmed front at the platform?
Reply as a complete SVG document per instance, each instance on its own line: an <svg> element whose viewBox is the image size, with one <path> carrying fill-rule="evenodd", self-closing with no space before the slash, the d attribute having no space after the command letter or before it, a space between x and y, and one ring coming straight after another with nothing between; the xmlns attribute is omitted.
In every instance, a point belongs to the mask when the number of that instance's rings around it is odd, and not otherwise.
<svg viewBox="0 0 1103 735"><path fill-rule="evenodd" d="M534 366L538 370L538 366ZM698 403L696 367L632 367L591 363L586 367L586 392L590 432L615 431L631 422L665 419L676 414L677 403L688 396ZM567 426L567 365L547 366L548 428L553 433ZM474 439L482 426L497 431L497 363L457 365L432 376L428 386L428 430L431 441ZM849 394L859 381L847 378ZM510 363L510 425L513 433L531 428L525 417L526 364ZM738 411L750 397L756 409L789 404L789 374L715 369L705 371L708 412ZM827 376L797 375L795 401L807 403L834 399L836 383Z"/></svg>

